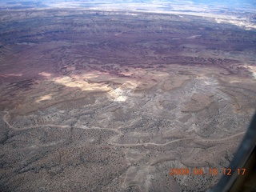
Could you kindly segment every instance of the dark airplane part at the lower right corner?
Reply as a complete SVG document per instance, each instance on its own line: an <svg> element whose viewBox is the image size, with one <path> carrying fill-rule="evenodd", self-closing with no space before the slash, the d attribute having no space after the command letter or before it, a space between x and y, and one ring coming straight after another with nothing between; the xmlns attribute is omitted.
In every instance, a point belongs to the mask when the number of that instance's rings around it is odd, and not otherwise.
<svg viewBox="0 0 256 192"><path fill-rule="evenodd" d="M209 192L256 191L256 113L228 168L232 174L223 175ZM246 169L245 174L238 174L238 169Z"/></svg>

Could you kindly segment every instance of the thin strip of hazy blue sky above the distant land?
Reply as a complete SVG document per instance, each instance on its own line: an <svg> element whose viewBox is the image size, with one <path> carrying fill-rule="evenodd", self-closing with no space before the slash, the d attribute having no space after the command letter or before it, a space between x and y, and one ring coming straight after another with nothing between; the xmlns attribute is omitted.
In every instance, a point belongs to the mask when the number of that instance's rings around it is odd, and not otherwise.
<svg viewBox="0 0 256 192"><path fill-rule="evenodd" d="M172 5L193 5L193 6L211 6L211 7L219 7L226 6L226 8L235 8L235 9L255 9L256 10L256 0L0 0L0 7L3 8L14 8L18 9L18 6L23 6L23 8L43 8L43 7L51 7L54 8L60 7L74 7L74 6L83 6L84 8L92 7L92 6L117 6L118 9L122 9L120 6L123 3L127 3L130 5L138 6L146 6L146 8L150 9L150 6L158 6L158 7L169 7ZM123 6L124 8L126 6Z"/></svg>

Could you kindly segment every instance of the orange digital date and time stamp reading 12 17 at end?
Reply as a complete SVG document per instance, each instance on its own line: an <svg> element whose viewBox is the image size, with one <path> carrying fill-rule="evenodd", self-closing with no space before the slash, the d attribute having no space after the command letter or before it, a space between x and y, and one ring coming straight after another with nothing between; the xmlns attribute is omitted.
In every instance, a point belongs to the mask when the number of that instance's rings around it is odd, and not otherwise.
<svg viewBox="0 0 256 192"><path fill-rule="evenodd" d="M236 170L232 170L230 168L205 168L205 167L183 167L183 168L170 168L170 175L193 175L193 176L201 176L201 175L210 175L210 176L222 176L232 174L244 175L246 174L246 168L238 168Z"/></svg>

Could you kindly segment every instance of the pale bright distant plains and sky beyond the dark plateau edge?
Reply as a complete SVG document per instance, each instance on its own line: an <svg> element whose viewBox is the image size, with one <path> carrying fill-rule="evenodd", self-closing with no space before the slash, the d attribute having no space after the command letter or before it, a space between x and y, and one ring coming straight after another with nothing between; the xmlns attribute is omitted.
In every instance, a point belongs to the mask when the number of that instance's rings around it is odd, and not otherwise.
<svg viewBox="0 0 256 192"><path fill-rule="evenodd" d="M183 14L214 18L216 22L230 23L235 26L245 27L247 30L256 29L256 2L252 0L0 0L0 12L5 10L91 10L91 11L121 11L131 13L150 14Z"/></svg>

